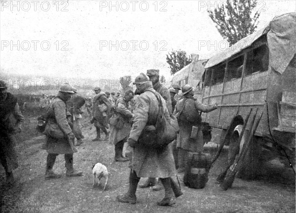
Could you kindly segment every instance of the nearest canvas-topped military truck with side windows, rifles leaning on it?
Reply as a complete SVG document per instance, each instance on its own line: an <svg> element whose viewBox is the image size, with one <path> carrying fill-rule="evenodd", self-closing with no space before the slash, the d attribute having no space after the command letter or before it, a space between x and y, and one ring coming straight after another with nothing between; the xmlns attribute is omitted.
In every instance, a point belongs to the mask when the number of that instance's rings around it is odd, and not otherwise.
<svg viewBox="0 0 296 213"><path fill-rule="evenodd" d="M203 121L221 129L220 138L230 129L226 135L229 156L238 150L233 147L242 147L237 139L250 108L259 108L257 119L263 112L240 173L245 178L256 177L260 160L275 157L295 171L295 29L296 13L276 16L205 64L202 103L217 102L219 108L203 114Z"/></svg>

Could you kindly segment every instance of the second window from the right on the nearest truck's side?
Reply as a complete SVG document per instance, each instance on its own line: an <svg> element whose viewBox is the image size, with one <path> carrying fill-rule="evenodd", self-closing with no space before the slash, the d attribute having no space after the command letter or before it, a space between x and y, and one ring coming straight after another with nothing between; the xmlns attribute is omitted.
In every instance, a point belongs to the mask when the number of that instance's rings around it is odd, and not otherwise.
<svg viewBox="0 0 296 213"><path fill-rule="evenodd" d="M242 77L244 65L244 55L228 62L226 81Z"/></svg>

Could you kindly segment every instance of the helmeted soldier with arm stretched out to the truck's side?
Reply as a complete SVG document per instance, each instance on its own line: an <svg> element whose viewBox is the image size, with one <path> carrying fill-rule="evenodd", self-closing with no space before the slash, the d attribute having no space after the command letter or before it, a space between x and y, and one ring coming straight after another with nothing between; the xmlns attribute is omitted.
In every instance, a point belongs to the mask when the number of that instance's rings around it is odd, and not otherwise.
<svg viewBox="0 0 296 213"><path fill-rule="evenodd" d="M177 138L177 148L179 148L178 173L182 173L185 170L187 152L203 152L204 143L199 111L207 113L218 108L217 103L209 106L199 103L193 98L194 93L190 85L185 85L182 88L182 94L183 98L177 102L174 111L174 114L180 113L178 118L180 132ZM192 126L198 127L196 138L190 138Z"/></svg>

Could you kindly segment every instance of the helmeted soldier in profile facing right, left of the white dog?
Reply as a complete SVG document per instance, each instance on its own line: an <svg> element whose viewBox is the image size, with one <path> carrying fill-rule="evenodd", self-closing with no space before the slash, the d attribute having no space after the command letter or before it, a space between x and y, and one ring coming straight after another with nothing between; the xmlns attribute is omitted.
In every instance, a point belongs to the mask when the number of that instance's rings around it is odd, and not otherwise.
<svg viewBox="0 0 296 213"><path fill-rule="evenodd" d="M67 117L71 117L71 114L66 103L73 94L73 88L69 84L63 85L47 110L48 122L44 130L46 145L43 147L48 152L45 179L61 177L60 174L52 171L56 157L59 154L65 154L67 177L82 175L82 172L73 168L74 150L71 148L70 142L74 139L74 134L67 120Z"/></svg>

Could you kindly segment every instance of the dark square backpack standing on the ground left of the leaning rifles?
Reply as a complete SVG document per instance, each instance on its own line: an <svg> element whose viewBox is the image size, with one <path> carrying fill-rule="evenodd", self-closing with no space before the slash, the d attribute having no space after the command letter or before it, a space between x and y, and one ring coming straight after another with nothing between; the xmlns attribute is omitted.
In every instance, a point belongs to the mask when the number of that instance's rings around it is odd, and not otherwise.
<svg viewBox="0 0 296 213"><path fill-rule="evenodd" d="M190 152L185 168L184 184L189 188L204 188L211 167L210 154Z"/></svg>

